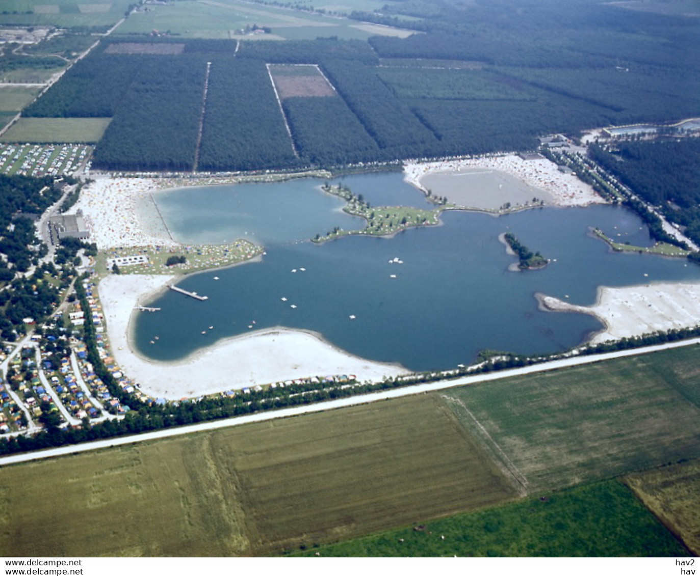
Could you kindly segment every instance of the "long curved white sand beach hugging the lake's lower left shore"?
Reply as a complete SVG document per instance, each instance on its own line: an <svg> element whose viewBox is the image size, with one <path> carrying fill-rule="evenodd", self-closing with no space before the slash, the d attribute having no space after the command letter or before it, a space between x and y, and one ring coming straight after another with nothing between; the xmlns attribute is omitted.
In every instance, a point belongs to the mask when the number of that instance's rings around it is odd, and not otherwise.
<svg viewBox="0 0 700 576"><path fill-rule="evenodd" d="M139 301L169 280L111 275L98 287L114 359L149 396L179 399L311 376L353 374L364 382L408 373L395 364L354 357L312 333L283 328L222 340L179 363L147 361L130 347L130 318Z"/></svg>

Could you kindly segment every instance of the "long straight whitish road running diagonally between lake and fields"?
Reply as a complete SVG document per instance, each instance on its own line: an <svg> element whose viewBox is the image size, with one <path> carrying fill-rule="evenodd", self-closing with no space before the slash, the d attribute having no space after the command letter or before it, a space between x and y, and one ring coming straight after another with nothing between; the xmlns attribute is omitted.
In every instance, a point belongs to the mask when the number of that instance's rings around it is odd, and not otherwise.
<svg viewBox="0 0 700 576"><path fill-rule="evenodd" d="M88 452L90 450L98 450L111 448L114 446L123 446L134 444L136 442L146 442L148 440L158 440L160 438L170 438L182 434L190 434L193 432L202 432L216 430L220 428L229 428L230 426L240 426L241 424L249 424L251 422L264 422L276 418L286 418L290 416L299 416L302 414L311 414L312 412L323 412L325 410L335 410L336 408L346 408L358 404L367 404L370 402L379 402L388 400L389 398L400 398L402 396L412 396L414 394L425 394L426 392L434 392L445 390L458 386L468 386L469 384L477 384L479 382L489 382L491 380L501 380L511 376L521 376L526 374L535 374L540 372L548 372L550 370L559 370L560 368L568 368L570 366L582 366L610 360L613 358L623 358L629 356L637 356L638 354L649 354L650 352L658 352L659 350L670 350L671 348L679 348L683 346L691 346L700 344L700 338L692 338L692 340L682 340L669 344L658 346L648 346L644 348L636 348L635 350L622 350L620 352L608 352L608 354L598 354L595 356L575 356L552 362L536 364L534 366L525 366L523 368L513 368L512 370L500 370L486 374L477 374L473 376L464 376L454 380L441 380L440 382L430 382L429 384L416 384L405 388L385 390L374 392L373 394L363 394L362 396L353 396L352 398L341 398L328 402L320 402L311 405L295 406L293 408L284 408L283 410L269 410L267 412L258 412L245 416L229 418L225 420L216 420L214 422L204 422L202 424L193 424L192 426L181 426L174 429L162 429L144 434L122 436L120 438L108 438L106 440L98 440L96 442L85 442L85 444L62 446L47 450L39 450L37 452L27 452L25 454L14 454L12 456L4 456L0 458L0 466L15 464L20 462L29 462L44 458L53 458L55 456L64 456L66 454L78 454L79 452Z"/></svg>

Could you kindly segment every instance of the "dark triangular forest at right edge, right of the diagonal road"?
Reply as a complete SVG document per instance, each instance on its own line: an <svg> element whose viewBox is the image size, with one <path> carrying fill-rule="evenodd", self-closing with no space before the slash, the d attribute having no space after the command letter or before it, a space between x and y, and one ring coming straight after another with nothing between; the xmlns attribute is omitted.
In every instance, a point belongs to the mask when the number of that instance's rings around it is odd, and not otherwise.
<svg viewBox="0 0 700 576"><path fill-rule="evenodd" d="M700 243L700 139L589 147L591 157Z"/></svg>

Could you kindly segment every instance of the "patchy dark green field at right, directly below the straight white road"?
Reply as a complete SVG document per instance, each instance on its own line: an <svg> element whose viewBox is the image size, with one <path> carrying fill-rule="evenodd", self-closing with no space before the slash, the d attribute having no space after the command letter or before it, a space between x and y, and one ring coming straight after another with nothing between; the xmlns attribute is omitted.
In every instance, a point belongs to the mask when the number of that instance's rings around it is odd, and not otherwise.
<svg viewBox="0 0 700 576"><path fill-rule="evenodd" d="M694 354L693 354L694 352ZM700 456L696 350L658 352L443 394L528 492Z"/></svg>

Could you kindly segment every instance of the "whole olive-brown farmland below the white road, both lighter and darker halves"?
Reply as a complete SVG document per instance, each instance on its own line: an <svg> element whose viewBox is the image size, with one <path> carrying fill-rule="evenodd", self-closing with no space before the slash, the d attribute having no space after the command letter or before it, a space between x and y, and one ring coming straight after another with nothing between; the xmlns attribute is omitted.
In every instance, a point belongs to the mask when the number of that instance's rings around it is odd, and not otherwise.
<svg viewBox="0 0 700 576"><path fill-rule="evenodd" d="M278 554L515 497L417 396L10 466L0 554Z"/></svg>

